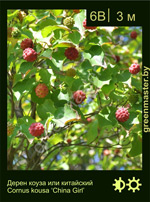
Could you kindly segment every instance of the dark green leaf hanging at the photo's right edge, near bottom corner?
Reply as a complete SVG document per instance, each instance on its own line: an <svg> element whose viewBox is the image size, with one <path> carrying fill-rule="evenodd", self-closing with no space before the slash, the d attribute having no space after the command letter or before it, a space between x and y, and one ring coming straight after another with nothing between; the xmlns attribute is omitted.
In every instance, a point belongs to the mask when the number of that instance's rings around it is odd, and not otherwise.
<svg viewBox="0 0 150 202"><path fill-rule="evenodd" d="M134 139L132 141L132 148L128 154L129 157L135 157L142 153L142 140L138 134L134 134Z"/></svg>

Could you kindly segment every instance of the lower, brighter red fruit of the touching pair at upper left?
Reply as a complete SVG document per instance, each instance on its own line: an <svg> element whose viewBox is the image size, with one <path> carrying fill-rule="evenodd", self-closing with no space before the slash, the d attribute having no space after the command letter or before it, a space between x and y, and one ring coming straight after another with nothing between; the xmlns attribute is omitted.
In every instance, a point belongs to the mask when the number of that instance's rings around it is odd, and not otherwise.
<svg viewBox="0 0 150 202"><path fill-rule="evenodd" d="M37 52L32 48L26 48L23 51L23 58L28 62L33 62L37 59Z"/></svg>

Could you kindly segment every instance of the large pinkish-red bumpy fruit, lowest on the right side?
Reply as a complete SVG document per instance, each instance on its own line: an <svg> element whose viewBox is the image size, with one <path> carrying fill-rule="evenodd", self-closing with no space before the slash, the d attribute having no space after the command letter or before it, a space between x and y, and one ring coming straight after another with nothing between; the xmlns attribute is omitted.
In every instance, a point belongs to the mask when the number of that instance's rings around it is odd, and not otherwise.
<svg viewBox="0 0 150 202"><path fill-rule="evenodd" d="M116 119L119 122L125 122L129 119L129 112L126 108L121 107L116 111Z"/></svg>

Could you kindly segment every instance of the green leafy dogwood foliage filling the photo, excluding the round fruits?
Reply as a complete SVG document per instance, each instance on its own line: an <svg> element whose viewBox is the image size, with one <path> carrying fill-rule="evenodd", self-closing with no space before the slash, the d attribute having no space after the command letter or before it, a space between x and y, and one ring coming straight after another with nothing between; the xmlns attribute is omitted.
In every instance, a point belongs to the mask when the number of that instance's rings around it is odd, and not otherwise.
<svg viewBox="0 0 150 202"><path fill-rule="evenodd" d="M66 17L73 27L63 24ZM90 30L85 18L85 10L8 10L8 121L15 125L7 137L8 169L142 169L142 71L129 72L132 63L142 67L141 27ZM20 30L18 37L12 28ZM25 38L33 40L34 62L23 59ZM64 54L69 47L79 52L75 60ZM39 83L49 89L44 98L36 96ZM78 105L77 90L86 94ZM130 113L124 123L116 120L118 107ZM44 125L40 137L29 133L35 122Z"/></svg>

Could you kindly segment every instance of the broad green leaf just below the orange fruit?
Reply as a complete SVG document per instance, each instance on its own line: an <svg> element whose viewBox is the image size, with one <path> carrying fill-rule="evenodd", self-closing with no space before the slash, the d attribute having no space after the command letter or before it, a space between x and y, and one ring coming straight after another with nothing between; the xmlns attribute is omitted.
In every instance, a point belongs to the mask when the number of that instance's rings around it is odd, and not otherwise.
<svg viewBox="0 0 150 202"><path fill-rule="evenodd" d="M55 113L56 108L52 100L45 100L43 104L38 105L37 113L41 119L47 119L50 114Z"/></svg>

